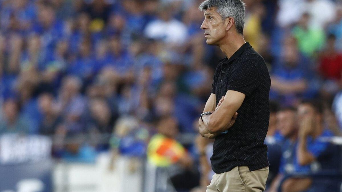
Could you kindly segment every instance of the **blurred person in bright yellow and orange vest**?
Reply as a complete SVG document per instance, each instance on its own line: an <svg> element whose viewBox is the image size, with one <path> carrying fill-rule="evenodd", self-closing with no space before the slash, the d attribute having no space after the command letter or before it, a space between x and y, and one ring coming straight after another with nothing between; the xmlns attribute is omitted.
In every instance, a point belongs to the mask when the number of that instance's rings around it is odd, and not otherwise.
<svg viewBox="0 0 342 192"><path fill-rule="evenodd" d="M178 133L177 121L172 116L164 116L157 123L158 134L147 146L148 161L170 171L170 180L177 191L186 191L199 183L197 174L191 170L194 160L182 144L175 140ZM184 182L186 180L186 182Z"/></svg>

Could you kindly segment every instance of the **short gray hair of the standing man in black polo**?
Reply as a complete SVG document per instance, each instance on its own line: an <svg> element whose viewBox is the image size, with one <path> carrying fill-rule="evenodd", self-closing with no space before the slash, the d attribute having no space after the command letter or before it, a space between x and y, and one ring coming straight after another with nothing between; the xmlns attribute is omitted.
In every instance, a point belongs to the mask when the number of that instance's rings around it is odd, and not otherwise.
<svg viewBox="0 0 342 192"><path fill-rule="evenodd" d="M201 11L215 7L222 19L233 17L238 33L244 31L246 8L242 0L205 0L199 5Z"/></svg>

